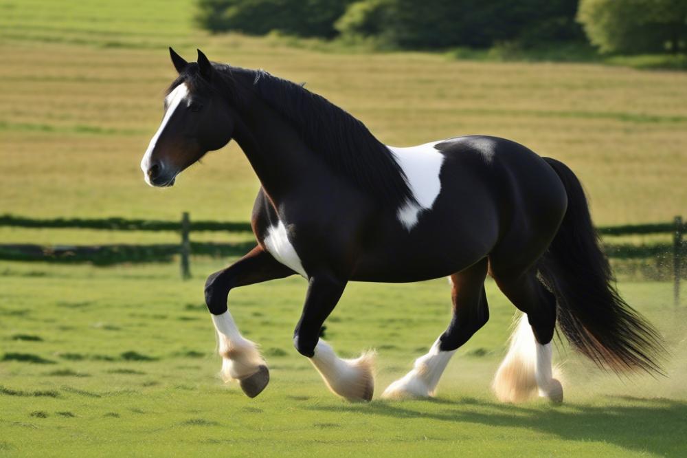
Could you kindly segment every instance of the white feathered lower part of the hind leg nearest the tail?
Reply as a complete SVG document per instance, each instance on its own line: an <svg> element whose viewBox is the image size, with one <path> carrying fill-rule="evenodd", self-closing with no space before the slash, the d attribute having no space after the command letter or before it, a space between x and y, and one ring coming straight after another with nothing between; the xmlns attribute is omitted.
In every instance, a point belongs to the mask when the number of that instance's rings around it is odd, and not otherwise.
<svg viewBox="0 0 687 458"><path fill-rule="evenodd" d="M523 402L539 389L542 397L556 402L563 400L561 383L553 378L551 359L551 342L539 344L527 314L522 314L492 384L496 396L503 402Z"/></svg>

